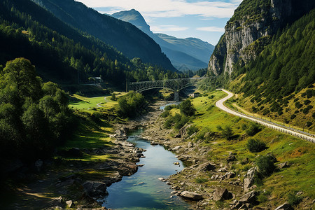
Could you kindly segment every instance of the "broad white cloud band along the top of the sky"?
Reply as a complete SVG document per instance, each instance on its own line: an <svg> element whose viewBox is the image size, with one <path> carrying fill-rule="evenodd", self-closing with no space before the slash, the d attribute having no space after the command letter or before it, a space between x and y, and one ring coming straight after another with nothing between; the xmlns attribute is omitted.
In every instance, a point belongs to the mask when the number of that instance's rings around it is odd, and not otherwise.
<svg viewBox="0 0 315 210"><path fill-rule="evenodd" d="M173 18L200 15L203 18L230 18L241 0L188 2L186 0L77 0L92 8L109 8L105 13L139 10L145 18Z"/></svg>

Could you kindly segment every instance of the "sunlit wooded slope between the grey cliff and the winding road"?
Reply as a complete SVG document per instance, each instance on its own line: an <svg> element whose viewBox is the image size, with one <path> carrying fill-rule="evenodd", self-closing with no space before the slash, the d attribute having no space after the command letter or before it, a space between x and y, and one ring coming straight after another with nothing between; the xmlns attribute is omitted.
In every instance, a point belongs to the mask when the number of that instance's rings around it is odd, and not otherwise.
<svg viewBox="0 0 315 210"><path fill-rule="evenodd" d="M232 88L244 92L239 104L250 100L249 111L314 128L315 9L279 30L255 60L233 75L241 75Z"/></svg>

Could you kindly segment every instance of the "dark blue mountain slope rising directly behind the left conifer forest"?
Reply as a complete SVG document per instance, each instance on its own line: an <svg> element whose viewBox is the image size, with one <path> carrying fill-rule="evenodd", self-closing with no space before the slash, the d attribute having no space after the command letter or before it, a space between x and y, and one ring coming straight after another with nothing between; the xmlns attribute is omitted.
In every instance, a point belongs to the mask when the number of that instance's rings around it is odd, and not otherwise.
<svg viewBox="0 0 315 210"><path fill-rule="evenodd" d="M176 71L166 55L162 53L160 46L128 22L102 15L92 8L87 8L83 3L73 0L33 1L72 27L113 45L130 59L140 57L143 62Z"/></svg>

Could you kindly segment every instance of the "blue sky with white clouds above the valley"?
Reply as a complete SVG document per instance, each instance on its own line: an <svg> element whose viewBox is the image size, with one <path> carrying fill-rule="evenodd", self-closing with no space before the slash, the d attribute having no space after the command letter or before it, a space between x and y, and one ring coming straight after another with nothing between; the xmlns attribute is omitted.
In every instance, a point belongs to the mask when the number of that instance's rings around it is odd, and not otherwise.
<svg viewBox="0 0 315 210"><path fill-rule="evenodd" d="M76 0L99 13L138 10L153 33L195 37L213 45L242 0Z"/></svg>

